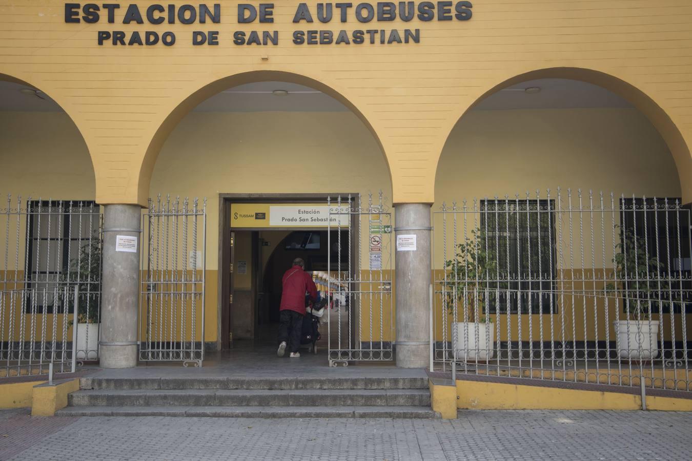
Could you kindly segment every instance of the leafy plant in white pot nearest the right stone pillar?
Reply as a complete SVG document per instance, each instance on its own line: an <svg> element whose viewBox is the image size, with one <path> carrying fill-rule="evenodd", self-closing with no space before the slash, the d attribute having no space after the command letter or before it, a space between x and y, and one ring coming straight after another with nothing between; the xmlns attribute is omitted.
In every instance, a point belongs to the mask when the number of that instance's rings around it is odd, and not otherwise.
<svg viewBox="0 0 692 461"><path fill-rule="evenodd" d="M498 288L497 252L480 229L471 231L455 247L455 255L445 262L444 286L446 308L453 314L457 306L457 359L487 361L495 356L495 323L488 316L489 297ZM486 243L489 243L486 245Z"/></svg>

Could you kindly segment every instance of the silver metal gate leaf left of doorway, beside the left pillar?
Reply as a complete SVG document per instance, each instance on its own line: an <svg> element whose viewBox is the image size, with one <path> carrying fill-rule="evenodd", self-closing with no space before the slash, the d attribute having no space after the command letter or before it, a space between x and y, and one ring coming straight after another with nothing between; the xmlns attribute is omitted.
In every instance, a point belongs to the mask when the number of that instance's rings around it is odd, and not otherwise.
<svg viewBox="0 0 692 461"><path fill-rule="evenodd" d="M156 202L143 214L140 361L204 359L206 199Z"/></svg>

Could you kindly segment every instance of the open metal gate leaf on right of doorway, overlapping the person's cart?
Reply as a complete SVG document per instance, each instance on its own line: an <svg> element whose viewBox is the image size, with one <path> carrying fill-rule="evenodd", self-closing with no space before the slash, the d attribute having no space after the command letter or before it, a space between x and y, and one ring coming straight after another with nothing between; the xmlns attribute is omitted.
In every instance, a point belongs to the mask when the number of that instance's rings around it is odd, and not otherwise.
<svg viewBox="0 0 692 461"><path fill-rule="evenodd" d="M329 365L394 359L392 214L382 192L329 197Z"/></svg>

